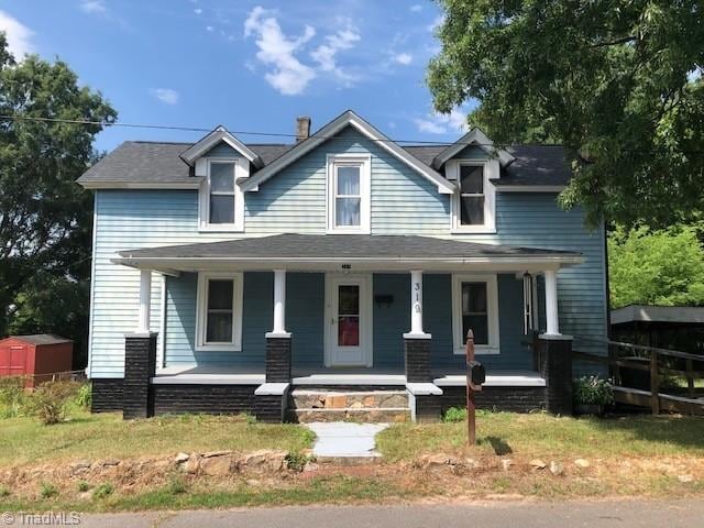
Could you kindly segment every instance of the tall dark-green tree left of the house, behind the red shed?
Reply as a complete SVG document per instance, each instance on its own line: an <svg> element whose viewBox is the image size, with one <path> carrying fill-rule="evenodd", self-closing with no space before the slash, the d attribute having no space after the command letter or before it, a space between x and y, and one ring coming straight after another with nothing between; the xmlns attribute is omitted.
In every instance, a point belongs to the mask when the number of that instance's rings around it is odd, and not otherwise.
<svg viewBox="0 0 704 528"><path fill-rule="evenodd" d="M102 96L63 62L16 62L0 33L0 336L55 331L85 341L92 198L76 185L96 154Z"/></svg>

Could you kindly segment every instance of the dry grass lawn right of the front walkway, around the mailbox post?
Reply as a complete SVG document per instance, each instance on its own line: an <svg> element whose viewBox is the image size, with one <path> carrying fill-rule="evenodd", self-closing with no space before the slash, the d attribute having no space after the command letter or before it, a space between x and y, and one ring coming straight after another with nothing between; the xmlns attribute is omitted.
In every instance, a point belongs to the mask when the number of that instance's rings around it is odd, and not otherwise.
<svg viewBox="0 0 704 528"><path fill-rule="evenodd" d="M704 418L628 416L557 418L542 413L477 413L477 446L466 447L466 424L403 424L377 437L392 461L424 453L564 457L704 457Z"/></svg>

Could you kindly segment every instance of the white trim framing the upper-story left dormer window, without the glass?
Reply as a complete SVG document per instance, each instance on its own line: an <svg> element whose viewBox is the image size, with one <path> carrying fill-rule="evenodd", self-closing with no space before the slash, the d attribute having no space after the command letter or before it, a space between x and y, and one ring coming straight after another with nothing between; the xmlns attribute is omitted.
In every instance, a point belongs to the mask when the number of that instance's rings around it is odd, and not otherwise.
<svg viewBox="0 0 704 528"><path fill-rule="evenodd" d="M210 223L210 166L213 163L234 163L233 223ZM198 199L198 231L243 232L244 193L238 182L250 176L250 162L244 157L201 157L196 161L196 176L204 176Z"/></svg>

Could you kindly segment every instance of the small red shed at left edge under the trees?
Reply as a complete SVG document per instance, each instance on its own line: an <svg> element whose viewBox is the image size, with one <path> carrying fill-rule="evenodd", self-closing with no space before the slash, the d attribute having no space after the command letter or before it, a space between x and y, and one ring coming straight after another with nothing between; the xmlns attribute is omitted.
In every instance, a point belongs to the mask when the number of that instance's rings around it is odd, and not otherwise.
<svg viewBox="0 0 704 528"><path fill-rule="evenodd" d="M69 372L73 353L74 342L61 336L10 336L0 340L0 376L30 376L26 386L34 387Z"/></svg>

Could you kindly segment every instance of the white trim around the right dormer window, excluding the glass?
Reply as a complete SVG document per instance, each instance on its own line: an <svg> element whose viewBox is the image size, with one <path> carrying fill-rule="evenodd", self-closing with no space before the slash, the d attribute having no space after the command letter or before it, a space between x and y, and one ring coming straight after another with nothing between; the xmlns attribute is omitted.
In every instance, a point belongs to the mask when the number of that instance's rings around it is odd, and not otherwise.
<svg viewBox="0 0 704 528"><path fill-rule="evenodd" d="M460 217L460 167L484 167L484 223L462 226ZM450 197L450 232L459 234L496 233L496 187L490 182L501 176L501 165L496 160L451 160L446 164L448 179L457 183Z"/></svg>

